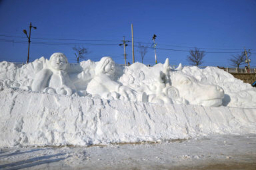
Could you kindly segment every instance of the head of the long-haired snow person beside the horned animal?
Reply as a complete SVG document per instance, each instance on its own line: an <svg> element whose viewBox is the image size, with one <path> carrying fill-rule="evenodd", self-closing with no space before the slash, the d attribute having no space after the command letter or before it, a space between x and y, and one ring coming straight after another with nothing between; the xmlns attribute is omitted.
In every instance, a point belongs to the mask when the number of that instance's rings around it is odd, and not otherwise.
<svg viewBox="0 0 256 170"><path fill-rule="evenodd" d="M111 57L103 57L101 58L99 63L97 63L97 66L95 68L95 74L99 75L101 73L107 75L114 75L115 62L113 61L113 59L111 59Z"/></svg>

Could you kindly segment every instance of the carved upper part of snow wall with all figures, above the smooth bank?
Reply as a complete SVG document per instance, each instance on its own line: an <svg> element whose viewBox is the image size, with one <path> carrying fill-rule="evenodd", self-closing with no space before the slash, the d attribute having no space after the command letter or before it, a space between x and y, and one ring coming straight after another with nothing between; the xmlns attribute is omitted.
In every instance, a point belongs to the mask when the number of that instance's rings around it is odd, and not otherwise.
<svg viewBox="0 0 256 170"><path fill-rule="evenodd" d="M171 69L169 59L154 67L141 63L122 67L111 57L75 65L68 63L63 53L53 53L49 60L41 57L21 68L3 61L0 70L1 86L44 93L150 103L256 107L256 90L229 73L215 67Z"/></svg>

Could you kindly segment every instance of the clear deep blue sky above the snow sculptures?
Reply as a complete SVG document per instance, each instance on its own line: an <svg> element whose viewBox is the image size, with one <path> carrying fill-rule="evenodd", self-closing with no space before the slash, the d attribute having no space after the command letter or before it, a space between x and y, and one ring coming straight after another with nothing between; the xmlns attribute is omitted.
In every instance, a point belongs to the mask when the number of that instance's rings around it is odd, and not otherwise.
<svg viewBox="0 0 256 170"><path fill-rule="evenodd" d="M255 18L255 0L0 0L0 61L27 61L28 43L23 29L29 31L32 22L37 29L31 30L31 60L62 52L74 63L72 47L77 44L91 51L87 59L98 61L110 56L117 63L124 63L119 43L123 36L131 40L133 23L135 42L151 46L153 34L157 35L157 47L161 48L157 49L158 62L163 63L169 57L171 65L188 65L187 51L198 47L205 48L201 50L206 52L228 52L206 53L203 65L229 66L231 55L246 47L252 49L251 65L256 66ZM131 63L131 43L127 54L127 61ZM141 61L137 47L135 61ZM149 49L144 63L154 61L154 50Z"/></svg>

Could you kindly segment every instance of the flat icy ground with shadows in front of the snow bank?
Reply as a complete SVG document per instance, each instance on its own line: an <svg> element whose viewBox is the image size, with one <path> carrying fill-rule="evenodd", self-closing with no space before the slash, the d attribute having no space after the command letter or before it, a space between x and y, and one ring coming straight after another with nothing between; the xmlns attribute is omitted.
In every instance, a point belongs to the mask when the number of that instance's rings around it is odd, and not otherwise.
<svg viewBox="0 0 256 170"><path fill-rule="evenodd" d="M0 169L256 169L256 135L209 135L165 143L11 147Z"/></svg>

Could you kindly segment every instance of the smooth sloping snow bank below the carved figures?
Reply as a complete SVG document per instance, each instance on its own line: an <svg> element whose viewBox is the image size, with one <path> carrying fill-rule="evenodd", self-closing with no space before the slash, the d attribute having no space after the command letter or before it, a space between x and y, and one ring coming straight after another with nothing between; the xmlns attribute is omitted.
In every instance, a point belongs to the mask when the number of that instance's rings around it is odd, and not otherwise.
<svg viewBox="0 0 256 170"><path fill-rule="evenodd" d="M0 147L256 133L256 109L68 97L1 87Z"/></svg>

